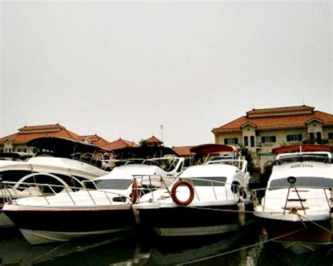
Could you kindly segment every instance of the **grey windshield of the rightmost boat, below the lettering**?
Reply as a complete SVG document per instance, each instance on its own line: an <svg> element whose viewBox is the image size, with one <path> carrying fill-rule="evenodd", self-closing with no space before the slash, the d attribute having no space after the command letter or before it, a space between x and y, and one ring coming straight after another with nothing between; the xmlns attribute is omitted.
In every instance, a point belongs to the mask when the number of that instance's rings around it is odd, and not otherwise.
<svg viewBox="0 0 333 266"><path fill-rule="evenodd" d="M269 188L290 187L287 178L272 180ZM333 178L298 177L294 187L333 187Z"/></svg>

